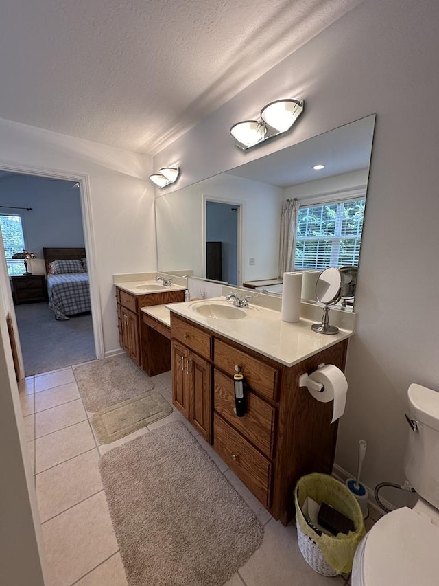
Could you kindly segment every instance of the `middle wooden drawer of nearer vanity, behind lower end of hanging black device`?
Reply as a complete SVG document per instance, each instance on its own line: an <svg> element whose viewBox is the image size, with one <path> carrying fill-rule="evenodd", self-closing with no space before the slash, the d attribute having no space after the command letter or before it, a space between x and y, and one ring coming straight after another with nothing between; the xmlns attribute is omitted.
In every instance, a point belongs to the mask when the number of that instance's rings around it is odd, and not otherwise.
<svg viewBox="0 0 439 586"><path fill-rule="evenodd" d="M250 391L245 392L246 414L237 417L233 380L215 370L215 411L240 431L268 458L273 455L274 416L276 409Z"/></svg>

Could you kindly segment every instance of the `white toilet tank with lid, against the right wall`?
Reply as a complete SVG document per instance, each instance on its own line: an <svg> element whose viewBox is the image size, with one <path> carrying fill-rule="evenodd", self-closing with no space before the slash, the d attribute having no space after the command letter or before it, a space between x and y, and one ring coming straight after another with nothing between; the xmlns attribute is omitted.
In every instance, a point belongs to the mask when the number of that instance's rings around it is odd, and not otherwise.
<svg viewBox="0 0 439 586"><path fill-rule="evenodd" d="M416 421L409 429L405 475L418 495L439 508L439 392L412 384L407 416Z"/></svg>

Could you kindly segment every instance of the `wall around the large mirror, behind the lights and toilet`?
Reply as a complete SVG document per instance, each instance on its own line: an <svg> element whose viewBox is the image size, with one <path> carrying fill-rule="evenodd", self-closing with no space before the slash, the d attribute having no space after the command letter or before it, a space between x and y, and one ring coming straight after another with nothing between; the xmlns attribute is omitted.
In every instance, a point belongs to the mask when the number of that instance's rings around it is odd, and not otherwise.
<svg viewBox="0 0 439 586"><path fill-rule="evenodd" d="M403 481L407 387L439 390L438 21L434 0L363 2L154 158L154 168L178 162L182 187L377 113L336 454L355 473L366 439L372 487ZM246 152L233 145L233 122L290 96L305 98L291 133Z"/></svg>

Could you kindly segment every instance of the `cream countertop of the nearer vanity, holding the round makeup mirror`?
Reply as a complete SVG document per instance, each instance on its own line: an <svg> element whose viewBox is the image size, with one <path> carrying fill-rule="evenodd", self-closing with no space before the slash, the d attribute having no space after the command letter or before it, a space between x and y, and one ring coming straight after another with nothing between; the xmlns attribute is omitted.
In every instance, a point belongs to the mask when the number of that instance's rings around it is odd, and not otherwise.
<svg viewBox="0 0 439 586"><path fill-rule="evenodd" d="M224 302L224 297L206 300L206 302L215 301ZM280 311L261 306L250 305L248 317L244 319L204 317L190 308L192 303L189 301L167 304L166 307L195 324L204 326L286 366L297 364L353 335L353 331L342 329L335 335L318 334L311 330L314 322L309 319L300 318L300 321L295 323L283 322Z"/></svg>

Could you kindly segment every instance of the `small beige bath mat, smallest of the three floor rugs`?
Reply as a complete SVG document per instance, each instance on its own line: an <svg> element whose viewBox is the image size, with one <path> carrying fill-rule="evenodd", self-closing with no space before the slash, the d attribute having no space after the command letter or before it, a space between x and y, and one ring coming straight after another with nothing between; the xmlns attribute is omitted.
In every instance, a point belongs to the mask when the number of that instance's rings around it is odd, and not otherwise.
<svg viewBox="0 0 439 586"><path fill-rule="evenodd" d="M152 390L98 411L91 425L99 443L110 444L171 413L171 405Z"/></svg>

